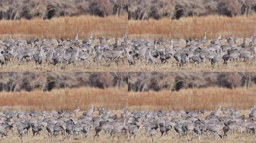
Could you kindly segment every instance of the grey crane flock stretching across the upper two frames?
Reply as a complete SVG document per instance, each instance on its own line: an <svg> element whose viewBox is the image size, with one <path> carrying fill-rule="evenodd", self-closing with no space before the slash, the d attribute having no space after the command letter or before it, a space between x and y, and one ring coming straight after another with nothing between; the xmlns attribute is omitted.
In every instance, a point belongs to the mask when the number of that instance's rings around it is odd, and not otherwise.
<svg viewBox="0 0 256 143"><path fill-rule="evenodd" d="M250 37L249 44L247 39L243 41L234 35L228 36L225 45L220 44L223 40L220 34L215 40L208 41L206 32L202 39L170 39L170 42L163 39L148 40L137 39L129 40L125 34L121 39L105 39L104 36L99 37L99 43L94 42L91 36L83 39L80 44L78 32L74 39L30 39L14 41L10 36L9 39L0 41L0 63L8 65L10 60L18 60L18 65L26 64L34 61L36 65L42 64L57 65L58 68L64 68L64 65L73 64L76 66L78 61L91 64L91 60L102 65L102 61L106 63L117 64L119 62L127 62L127 65L135 66L141 62L146 65L162 66L170 64L170 59L174 60L177 68L188 67L188 63L203 67L204 64L217 64L219 70L220 61L223 61L223 67L227 67L229 62L249 62L254 60L256 51L256 36ZM232 42L232 40L234 42ZM115 42L114 42L115 41ZM121 41L121 42L120 42ZM210 44L206 45L207 42ZM243 43L241 43L243 42ZM112 44L111 44L112 43ZM185 45L182 47L180 45ZM207 62L209 61L209 62ZM126 63L126 62L125 62ZM49 67L50 68L50 67ZM68 67L67 67L68 68Z"/></svg>

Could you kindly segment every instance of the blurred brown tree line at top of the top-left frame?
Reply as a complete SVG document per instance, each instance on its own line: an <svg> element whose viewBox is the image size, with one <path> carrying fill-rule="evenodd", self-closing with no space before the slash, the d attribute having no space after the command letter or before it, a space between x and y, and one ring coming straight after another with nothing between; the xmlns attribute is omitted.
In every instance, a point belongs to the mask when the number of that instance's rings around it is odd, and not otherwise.
<svg viewBox="0 0 256 143"><path fill-rule="evenodd" d="M128 0L0 0L0 19L124 15Z"/></svg>

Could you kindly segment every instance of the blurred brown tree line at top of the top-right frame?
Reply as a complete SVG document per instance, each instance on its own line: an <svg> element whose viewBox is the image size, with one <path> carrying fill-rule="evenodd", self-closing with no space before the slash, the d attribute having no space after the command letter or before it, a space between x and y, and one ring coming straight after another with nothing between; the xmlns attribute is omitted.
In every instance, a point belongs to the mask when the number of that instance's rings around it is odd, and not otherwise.
<svg viewBox="0 0 256 143"><path fill-rule="evenodd" d="M128 0L128 19L179 19L205 15L251 15L256 0Z"/></svg>

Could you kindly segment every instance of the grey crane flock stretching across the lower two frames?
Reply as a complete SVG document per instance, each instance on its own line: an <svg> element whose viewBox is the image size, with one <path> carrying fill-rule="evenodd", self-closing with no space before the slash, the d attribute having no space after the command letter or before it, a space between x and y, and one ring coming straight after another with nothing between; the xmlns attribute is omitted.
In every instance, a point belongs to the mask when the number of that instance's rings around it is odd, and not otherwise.
<svg viewBox="0 0 256 143"><path fill-rule="evenodd" d="M171 136L179 140L214 140L237 134L251 134L255 136L256 106L249 110L249 115L242 115L240 110L221 105L213 112L187 109L186 111L143 111L129 112L128 107L122 109L119 115L113 111L99 108L95 112L94 106L82 112L79 107L73 111L6 111L0 112L1 140L8 139L9 134L18 136L21 142L26 138L47 134L48 140L84 140L97 139L107 136L113 142L115 137L125 140L136 139L138 136L161 140ZM77 115L79 115L77 117ZM95 135L94 135L95 134ZM239 137L239 135L237 135ZM111 137L111 139L110 139ZM214 138L213 138L214 137Z"/></svg>

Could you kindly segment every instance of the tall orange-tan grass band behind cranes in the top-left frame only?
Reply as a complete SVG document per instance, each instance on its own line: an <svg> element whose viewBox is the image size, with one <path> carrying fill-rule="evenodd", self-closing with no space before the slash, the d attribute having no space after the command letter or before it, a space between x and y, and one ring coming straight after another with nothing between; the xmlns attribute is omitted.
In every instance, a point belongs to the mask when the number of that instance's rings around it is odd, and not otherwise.
<svg viewBox="0 0 256 143"><path fill-rule="evenodd" d="M31 20L0 20L0 39L52 39L71 38L79 31L79 39L88 38L91 32L98 39L99 36L106 38L118 38L127 31L127 16L73 16L52 18L43 20L34 18Z"/></svg>

